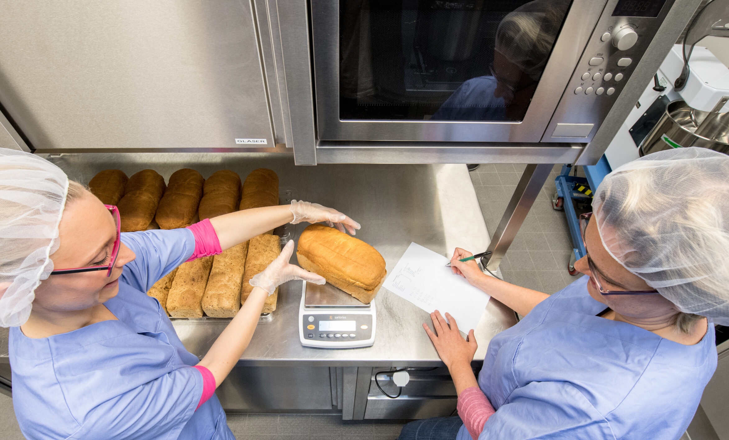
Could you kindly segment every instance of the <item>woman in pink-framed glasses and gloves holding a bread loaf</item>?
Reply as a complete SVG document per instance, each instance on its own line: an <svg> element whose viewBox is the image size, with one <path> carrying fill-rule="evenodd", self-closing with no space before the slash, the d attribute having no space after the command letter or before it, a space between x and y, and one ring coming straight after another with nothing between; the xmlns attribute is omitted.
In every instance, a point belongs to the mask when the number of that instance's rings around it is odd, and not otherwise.
<svg viewBox="0 0 729 440"><path fill-rule="evenodd" d="M214 388L251 340L268 294L287 280L324 278L289 264L289 242L254 277L249 298L202 360L185 350L145 292L191 257L288 222L329 221L350 233L359 224L306 202L238 211L190 229L119 234L117 221L115 207L55 165L0 149L0 325L11 327L12 397L23 435L234 439Z"/></svg>

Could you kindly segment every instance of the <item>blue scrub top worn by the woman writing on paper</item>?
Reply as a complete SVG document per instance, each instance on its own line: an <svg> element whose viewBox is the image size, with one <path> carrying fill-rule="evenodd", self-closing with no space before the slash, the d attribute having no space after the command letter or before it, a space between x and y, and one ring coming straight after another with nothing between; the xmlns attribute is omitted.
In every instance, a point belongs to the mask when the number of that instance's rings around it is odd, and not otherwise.
<svg viewBox="0 0 729 440"><path fill-rule="evenodd" d="M596 316L583 276L491 339L478 385L496 409L479 439L676 440L717 367L696 345ZM458 440L470 440L465 426Z"/></svg>

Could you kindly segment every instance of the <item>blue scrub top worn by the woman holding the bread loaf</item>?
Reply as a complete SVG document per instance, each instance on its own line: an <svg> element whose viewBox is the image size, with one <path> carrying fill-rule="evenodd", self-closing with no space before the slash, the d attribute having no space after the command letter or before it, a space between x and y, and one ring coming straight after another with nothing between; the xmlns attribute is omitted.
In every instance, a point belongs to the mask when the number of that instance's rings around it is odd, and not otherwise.
<svg viewBox="0 0 729 440"><path fill-rule="evenodd" d="M104 305L118 321L31 339L10 329L12 401L29 439L235 439L157 299L145 292L190 258L189 229L126 232L136 259Z"/></svg>

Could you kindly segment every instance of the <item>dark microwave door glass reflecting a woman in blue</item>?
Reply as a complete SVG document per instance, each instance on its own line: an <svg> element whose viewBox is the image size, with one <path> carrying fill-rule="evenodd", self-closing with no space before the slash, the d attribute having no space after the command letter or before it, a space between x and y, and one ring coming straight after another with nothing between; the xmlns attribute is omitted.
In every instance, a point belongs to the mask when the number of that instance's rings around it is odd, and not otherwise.
<svg viewBox="0 0 729 440"><path fill-rule="evenodd" d="M340 119L521 121L569 4L340 0Z"/></svg>

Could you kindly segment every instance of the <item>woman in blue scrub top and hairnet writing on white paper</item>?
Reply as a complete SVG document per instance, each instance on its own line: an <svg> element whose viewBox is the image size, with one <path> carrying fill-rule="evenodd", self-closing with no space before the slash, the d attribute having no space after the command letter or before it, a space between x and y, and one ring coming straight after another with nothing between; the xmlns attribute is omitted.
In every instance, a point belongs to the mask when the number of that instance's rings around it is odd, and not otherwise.
<svg viewBox="0 0 729 440"><path fill-rule="evenodd" d="M729 324L728 175L728 156L695 147L617 168L580 219L586 276L551 296L456 249L453 272L523 318L491 339L475 377L473 331L432 313L459 417L409 423L399 439L682 436L717 366L714 323Z"/></svg>

